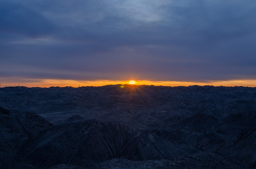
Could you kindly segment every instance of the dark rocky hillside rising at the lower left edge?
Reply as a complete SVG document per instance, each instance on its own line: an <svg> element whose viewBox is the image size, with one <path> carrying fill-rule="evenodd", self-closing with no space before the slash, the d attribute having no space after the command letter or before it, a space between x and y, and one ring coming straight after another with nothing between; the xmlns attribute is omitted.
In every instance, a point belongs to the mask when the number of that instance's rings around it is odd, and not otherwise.
<svg viewBox="0 0 256 169"><path fill-rule="evenodd" d="M16 150L23 140L37 135L51 124L41 116L8 111L0 107L0 166L5 169L33 168L17 156Z"/></svg>

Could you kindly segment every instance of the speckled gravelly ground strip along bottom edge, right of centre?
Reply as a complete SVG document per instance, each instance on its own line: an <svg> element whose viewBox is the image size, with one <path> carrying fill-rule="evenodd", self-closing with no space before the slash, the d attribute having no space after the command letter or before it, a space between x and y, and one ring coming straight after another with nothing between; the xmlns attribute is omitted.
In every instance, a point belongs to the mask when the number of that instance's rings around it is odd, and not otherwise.
<svg viewBox="0 0 256 169"><path fill-rule="evenodd" d="M244 169L245 166L220 154L198 153L150 161L112 159L91 169Z"/></svg>

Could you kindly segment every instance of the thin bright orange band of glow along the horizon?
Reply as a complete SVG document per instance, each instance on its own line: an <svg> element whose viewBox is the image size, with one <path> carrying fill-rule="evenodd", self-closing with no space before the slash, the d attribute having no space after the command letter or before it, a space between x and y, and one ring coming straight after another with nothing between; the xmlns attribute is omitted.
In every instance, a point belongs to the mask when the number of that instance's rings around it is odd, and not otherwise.
<svg viewBox="0 0 256 169"><path fill-rule="evenodd" d="M0 79L1 80L1 79ZM2 80L1 80L2 81ZM3 81L2 81L3 82ZM95 81L78 81L78 80L54 80L54 79L37 79L37 82L23 83L0 83L0 87L7 86L26 86L26 87L82 87L82 86L103 86L109 84L130 84L131 80L95 80ZM132 82L133 83L133 82ZM256 80L227 80L227 81L209 81L209 82L181 82L181 81L149 81L136 80L136 85L162 85L162 86L190 86L190 85L213 85L213 86L245 86L256 87Z"/></svg>

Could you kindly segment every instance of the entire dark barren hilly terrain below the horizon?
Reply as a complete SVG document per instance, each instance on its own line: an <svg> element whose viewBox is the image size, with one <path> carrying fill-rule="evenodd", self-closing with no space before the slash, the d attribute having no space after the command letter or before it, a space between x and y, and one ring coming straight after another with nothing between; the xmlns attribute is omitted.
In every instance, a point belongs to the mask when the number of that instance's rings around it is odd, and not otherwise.
<svg viewBox="0 0 256 169"><path fill-rule="evenodd" d="M0 88L2 169L256 168L256 88Z"/></svg>

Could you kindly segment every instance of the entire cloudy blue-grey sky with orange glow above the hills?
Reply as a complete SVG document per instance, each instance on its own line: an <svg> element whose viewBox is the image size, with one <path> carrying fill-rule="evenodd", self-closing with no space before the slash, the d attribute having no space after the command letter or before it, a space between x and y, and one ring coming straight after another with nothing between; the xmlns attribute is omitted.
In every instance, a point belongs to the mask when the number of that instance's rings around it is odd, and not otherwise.
<svg viewBox="0 0 256 169"><path fill-rule="evenodd" d="M256 86L256 0L0 0L0 84Z"/></svg>

